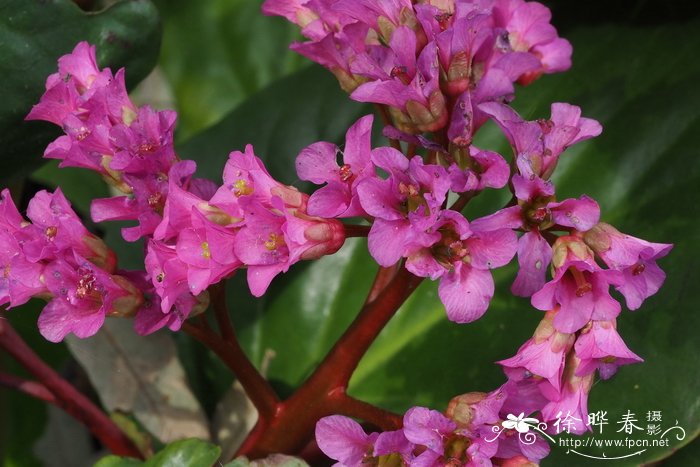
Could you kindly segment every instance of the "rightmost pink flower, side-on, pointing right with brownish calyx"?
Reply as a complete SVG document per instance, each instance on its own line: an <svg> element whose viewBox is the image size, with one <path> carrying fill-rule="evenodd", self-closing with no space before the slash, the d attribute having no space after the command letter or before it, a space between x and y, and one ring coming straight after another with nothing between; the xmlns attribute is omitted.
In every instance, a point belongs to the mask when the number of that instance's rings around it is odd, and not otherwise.
<svg viewBox="0 0 700 467"><path fill-rule="evenodd" d="M673 248L620 233L601 222L584 236L586 243L612 269L622 271L623 282L615 288L625 296L627 308L636 310L661 288L666 274L656 261Z"/></svg>

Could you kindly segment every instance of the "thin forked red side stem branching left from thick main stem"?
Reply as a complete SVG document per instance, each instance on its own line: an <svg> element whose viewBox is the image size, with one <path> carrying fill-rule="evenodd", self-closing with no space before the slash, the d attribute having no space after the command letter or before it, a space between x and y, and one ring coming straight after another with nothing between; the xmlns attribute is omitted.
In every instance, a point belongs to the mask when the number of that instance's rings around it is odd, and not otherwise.
<svg viewBox="0 0 700 467"><path fill-rule="evenodd" d="M272 386L260 374L251 363L238 343L233 325L229 319L226 308L225 289L221 287L210 288L212 305L216 319L221 328L223 338L216 334L208 325L195 325L185 322L182 329L190 336L209 347L228 366L240 381L246 394L258 410L258 416L262 421L271 419L279 404L279 398Z"/></svg>

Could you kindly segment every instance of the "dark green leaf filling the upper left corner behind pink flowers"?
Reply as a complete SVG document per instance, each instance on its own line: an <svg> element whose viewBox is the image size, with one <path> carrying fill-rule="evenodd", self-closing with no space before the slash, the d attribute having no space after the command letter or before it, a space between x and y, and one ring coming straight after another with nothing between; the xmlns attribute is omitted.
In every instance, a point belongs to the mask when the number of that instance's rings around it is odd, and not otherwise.
<svg viewBox="0 0 700 467"><path fill-rule="evenodd" d="M71 0L0 0L0 180L6 183L36 168L59 129L46 122L24 122L44 92L56 61L81 40L97 45L101 66L128 67L135 85L154 66L160 24L148 0L128 0L98 12L81 11Z"/></svg>

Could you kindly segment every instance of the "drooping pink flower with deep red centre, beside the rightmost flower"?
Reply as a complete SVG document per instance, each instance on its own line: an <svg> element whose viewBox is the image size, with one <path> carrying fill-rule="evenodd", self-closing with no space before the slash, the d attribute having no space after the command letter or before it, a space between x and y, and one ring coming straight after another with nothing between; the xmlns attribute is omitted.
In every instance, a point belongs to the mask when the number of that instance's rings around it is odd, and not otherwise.
<svg viewBox="0 0 700 467"><path fill-rule="evenodd" d="M592 319L616 318L620 304L609 287L620 284L621 274L601 269L578 237L559 237L553 249L554 278L532 296L532 305L545 311L560 306L553 321L560 332L576 332Z"/></svg>

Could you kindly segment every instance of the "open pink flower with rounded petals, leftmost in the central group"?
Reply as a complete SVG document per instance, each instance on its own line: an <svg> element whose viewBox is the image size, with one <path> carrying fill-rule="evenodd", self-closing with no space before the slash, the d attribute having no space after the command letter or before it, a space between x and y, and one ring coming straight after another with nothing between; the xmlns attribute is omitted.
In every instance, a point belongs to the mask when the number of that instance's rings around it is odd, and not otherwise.
<svg viewBox="0 0 700 467"><path fill-rule="evenodd" d="M367 177L374 176L374 164L370 158L372 121L373 116L366 115L350 127L345 137L341 166L336 162L340 149L331 143L314 143L297 156L299 178L316 184L326 183L309 198L307 211L310 215L367 215L360 205L357 186Z"/></svg>

